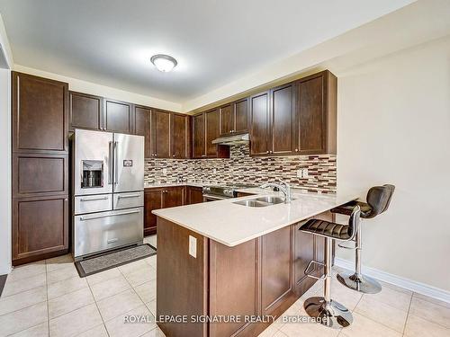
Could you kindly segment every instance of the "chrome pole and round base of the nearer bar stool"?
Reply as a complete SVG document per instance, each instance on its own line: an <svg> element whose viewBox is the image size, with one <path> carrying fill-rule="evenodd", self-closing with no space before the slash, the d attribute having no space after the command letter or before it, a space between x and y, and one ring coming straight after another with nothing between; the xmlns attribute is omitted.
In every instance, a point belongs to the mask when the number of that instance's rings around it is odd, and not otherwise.
<svg viewBox="0 0 450 337"><path fill-rule="evenodd" d="M318 323L330 328L340 329L352 324L353 315L345 306L333 301L330 296L332 243L332 239L327 237L325 242L324 297L310 297L303 306L308 315L318 319Z"/></svg>

